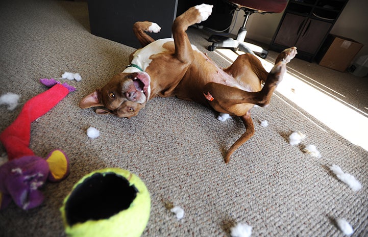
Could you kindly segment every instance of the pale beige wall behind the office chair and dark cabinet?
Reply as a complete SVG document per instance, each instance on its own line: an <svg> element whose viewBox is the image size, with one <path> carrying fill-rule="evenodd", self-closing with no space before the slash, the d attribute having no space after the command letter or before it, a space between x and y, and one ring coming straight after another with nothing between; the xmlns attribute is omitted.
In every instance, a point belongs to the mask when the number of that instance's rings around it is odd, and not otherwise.
<svg viewBox="0 0 368 237"><path fill-rule="evenodd" d="M351 38L362 43L357 57L368 55L368 1L349 0L340 17L331 30L331 34ZM277 30L283 13L278 14L253 14L247 23L247 38L265 44L270 44ZM243 22L243 12L240 11L232 34L237 34Z"/></svg>

